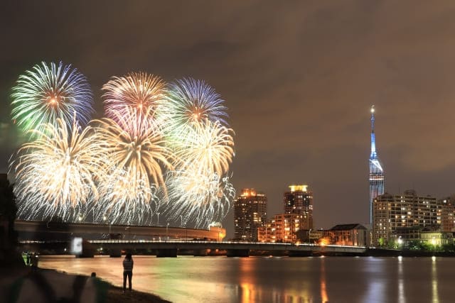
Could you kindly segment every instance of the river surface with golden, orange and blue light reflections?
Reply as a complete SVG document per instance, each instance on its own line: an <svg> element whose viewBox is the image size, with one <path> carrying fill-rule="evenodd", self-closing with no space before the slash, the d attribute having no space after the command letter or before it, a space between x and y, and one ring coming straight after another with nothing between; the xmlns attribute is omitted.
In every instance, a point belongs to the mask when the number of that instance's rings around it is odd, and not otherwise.
<svg viewBox="0 0 455 303"><path fill-rule="evenodd" d="M455 258L134 256L133 288L172 302L452 302ZM122 258L42 257L40 267L122 285Z"/></svg>

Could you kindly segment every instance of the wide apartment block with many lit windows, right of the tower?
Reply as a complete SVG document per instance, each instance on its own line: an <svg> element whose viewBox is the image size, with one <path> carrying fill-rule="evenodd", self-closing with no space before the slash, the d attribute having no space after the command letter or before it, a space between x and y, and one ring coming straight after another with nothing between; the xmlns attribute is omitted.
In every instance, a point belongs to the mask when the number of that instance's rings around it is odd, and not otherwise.
<svg viewBox="0 0 455 303"><path fill-rule="evenodd" d="M395 241L397 230L403 228L440 231L445 207L444 200L429 195L417 196L414 190L376 197L373 202L373 245Z"/></svg>

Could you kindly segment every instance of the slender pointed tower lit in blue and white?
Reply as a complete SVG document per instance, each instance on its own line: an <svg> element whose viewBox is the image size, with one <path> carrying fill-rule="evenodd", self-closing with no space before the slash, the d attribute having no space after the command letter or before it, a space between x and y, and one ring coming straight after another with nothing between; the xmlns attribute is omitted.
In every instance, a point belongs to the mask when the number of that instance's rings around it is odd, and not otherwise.
<svg viewBox="0 0 455 303"><path fill-rule="evenodd" d="M384 194L384 170L376 153L375 106L371 106L371 153L370 153L370 225L373 226L373 200Z"/></svg>

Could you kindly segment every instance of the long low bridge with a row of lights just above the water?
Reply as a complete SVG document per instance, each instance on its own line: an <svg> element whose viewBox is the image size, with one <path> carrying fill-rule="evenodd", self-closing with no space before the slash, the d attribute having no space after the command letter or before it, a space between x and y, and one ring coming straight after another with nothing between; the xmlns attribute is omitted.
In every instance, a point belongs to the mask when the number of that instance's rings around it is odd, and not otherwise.
<svg viewBox="0 0 455 303"><path fill-rule="evenodd" d="M70 241L21 241L24 250L54 250L70 252ZM80 257L93 257L97 253L119 257L122 251L146 253L157 257L177 255L227 255L228 257L248 257L250 255L364 255L367 248L358 246L334 246L296 243L257 243L235 241L176 241L176 240L89 240L82 242Z"/></svg>

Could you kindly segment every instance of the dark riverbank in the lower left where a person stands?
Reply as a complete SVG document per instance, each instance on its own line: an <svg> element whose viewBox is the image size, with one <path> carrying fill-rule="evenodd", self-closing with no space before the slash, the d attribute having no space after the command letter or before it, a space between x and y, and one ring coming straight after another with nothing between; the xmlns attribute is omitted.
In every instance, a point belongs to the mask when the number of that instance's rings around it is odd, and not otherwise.
<svg viewBox="0 0 455 303"><path fill-rule="evenodd" d="M146 292L123 292L98 277L71 275L56 270L27 267L0 269L0 297L6 302L49 302L50 300L77 299L77 302L106 303L169 303ZM2 301L3 302L3 301Z"/></svg>

